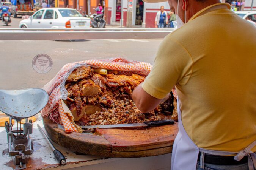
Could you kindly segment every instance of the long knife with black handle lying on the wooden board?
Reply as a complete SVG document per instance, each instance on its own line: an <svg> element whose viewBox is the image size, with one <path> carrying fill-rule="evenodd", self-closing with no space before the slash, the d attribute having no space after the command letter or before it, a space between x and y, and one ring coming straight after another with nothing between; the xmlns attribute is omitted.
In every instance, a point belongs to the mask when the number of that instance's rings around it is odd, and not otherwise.
<svg viewBox="0 0 256 170"><path fill-rule="evenodd" d="M161 120L161 121L145 121L138 124L118 124L118 125L94 125L94 126L80 126L82 129L95 129L95 128L146 128L151 126L173 125L174 120Z"/></svg>

